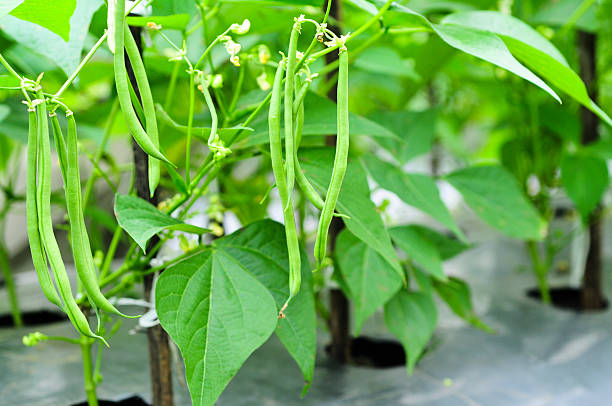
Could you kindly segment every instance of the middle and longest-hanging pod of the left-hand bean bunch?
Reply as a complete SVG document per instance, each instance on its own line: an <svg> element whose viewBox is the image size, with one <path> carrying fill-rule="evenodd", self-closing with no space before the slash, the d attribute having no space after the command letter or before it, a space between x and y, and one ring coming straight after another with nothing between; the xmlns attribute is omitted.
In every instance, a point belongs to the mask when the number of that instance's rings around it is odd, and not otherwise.
<svg viewBox="0 0 612 406"><path fill-rule="evenodd" d="M68 279L68 273L66 272L66 267L64 266L64 261L53 233L53 222L51 219L51 145L49 143L49 122L47 120L47 106L42 91L37 93L37 97L40 101L36 107L38 115L37 143L40 147L38 161L40 183L36 196L37 204L39 204L38 231L68 318L70 318L74 327L81 334L98 338L108 345L103 337L91 331L87 317L85 317L72 296L70 279Z"/></svg>

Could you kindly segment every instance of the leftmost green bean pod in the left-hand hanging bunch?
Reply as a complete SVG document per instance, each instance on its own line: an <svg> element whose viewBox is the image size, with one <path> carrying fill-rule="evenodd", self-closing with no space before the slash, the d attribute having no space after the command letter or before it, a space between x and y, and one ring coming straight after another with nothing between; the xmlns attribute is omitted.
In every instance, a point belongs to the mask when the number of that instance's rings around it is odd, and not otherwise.
<svg viewBox="0 0 612 406"><path fill-rule="evenodd" d="M47 266L45 252L43 251L40 234L38 232L38 209L36 202L36 172L38 166L38 142L37 132L38 124L36 110L28 110L29 131L28 131L28 168L26 174L26 212L28 223L28 240L30 241L30 255L34 263L34 269L38 276L40 287L51 303L63 309L62 301L60 300L51 275Z"/></svg>

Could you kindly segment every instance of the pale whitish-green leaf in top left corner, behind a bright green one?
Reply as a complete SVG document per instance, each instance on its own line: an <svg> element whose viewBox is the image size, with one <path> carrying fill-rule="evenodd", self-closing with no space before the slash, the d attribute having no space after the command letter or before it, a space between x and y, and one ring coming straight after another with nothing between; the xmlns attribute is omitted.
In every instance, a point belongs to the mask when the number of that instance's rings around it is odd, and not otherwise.
<svg viewBox="0 0 612 406"><path fill-rule="evenodd" d="M45 13L55 7L49 7L46 1L38 1L45 4ZM70 19L70 40L68 42L57 34L41 29L34 23L17 19L11 15L0 19L0 29L20 44L49 58L66 75L70 75L81 62L81 52L89 31L91 17L102 4L104 4L102 0L79 0L77 2L74 14Z"/></svg>

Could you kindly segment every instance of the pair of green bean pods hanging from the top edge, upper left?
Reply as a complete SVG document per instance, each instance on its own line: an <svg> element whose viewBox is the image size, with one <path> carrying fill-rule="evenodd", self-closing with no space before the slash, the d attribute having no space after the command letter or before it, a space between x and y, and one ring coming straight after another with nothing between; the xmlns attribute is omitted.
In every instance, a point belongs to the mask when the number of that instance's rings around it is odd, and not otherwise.
<svg viewBox="0 0 612 406"><path fill-rule="evenodd" d="M142 150L146 152L149 158L149 191L151 196L155 193L155 189L160 178L160 162L163 161L172 166L172 163L159 150L159 135L157 130L157 118L155 115L155 104L151 95L149 81L140 52L136 46L136 42L129 30L125 20L125 2L117 1L114 10L115 18L115 56L114 56L114 71L115 85L117 87L117 98L121 105L121 110L125 117L134 140L140 145ZM125 66L124 51L127 51L128 58L132 65L136 83L140 90L142 98L142 109L145 119L146 131L142 127L138 115L132 105L130 98L130 83Z"/></svg>

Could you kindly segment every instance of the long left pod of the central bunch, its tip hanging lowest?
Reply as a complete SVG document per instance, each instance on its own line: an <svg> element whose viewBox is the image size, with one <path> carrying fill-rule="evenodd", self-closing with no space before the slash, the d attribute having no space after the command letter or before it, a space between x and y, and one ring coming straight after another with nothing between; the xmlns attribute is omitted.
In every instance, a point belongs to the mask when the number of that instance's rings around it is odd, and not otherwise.
<svg viewBox="0 0 612 406"><path fill-rule="evenodd" d="M281 202L288 202L286 208L283 209L283 218L285 220L285 236L287 238L287 251L289 255L289 298L281 308L281 317L289 301L298 294L302 279L300 243L295 225L295 216L293 215L291 195L287 188L287 179L283 168L283 152L280 135L282 80L283 64L279 63L276 75L274 76L274 87L272 88L272 98L270 99L268 130L270 136L270 159L272 161L272 171L276 179L278 194L281 198Z"/></svg>

